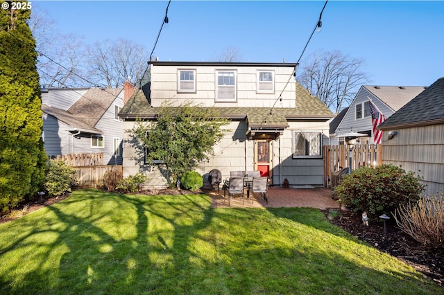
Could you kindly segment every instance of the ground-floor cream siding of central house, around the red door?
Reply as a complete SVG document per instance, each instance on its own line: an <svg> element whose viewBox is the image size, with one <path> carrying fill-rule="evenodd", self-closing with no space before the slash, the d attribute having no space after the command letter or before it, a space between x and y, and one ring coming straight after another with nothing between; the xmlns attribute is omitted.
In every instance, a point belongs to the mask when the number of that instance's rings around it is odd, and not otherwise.
<svg viewBox="0 0 444 295"><path fill-rule="evenodd" d="M123 129L133 128L134 122L126 121ZM328 134L327 122L292 122L291 127L284 131L284 134L273 142L273 179L274 186L281 186L282 181L287 178L289 184L293 186L313 185L323 186L323 159L293 159L293 131L321 131ZM208 161L200 163L196 167L196 172L204 177L212 169L221 171L222 179L230 177L230 171L241 170L248 172L254 170L254 141L248 141L245 136L246 124L244 121L231 121L225 126L228 132L224 138L214 145L214 154ZM243 136L239 136L243 134ZM123 176L135 175L137 172L146 170L143 159L136 161L136 153L131 147L128 133L123 135ZM166 179L160 170L153 166L153 170L146 171L148 181L146 186L166 185Z"/></svg>

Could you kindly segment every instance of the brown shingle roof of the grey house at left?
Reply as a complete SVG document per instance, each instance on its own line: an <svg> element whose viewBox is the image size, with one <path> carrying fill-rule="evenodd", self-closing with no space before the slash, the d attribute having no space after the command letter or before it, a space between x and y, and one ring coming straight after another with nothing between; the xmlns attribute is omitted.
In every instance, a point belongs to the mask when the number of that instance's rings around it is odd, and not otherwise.
<svg viewBox="0 0 444 295"><path fill-rule="evenodd" d="M74 129L102 134L103 132L94 126L122 90L119 88L88 89L67 111L48 105L42 105L42 111Z"/></svg>

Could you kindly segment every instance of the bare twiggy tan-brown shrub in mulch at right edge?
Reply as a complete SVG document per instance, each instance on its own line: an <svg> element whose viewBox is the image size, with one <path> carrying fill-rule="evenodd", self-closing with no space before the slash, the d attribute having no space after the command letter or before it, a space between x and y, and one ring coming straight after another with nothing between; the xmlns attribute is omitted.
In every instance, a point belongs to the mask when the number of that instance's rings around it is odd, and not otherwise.
<svg viewBox="0 0 444 295"><path fill-rule="evenodd" d="M423 197L416 204L403 204L395 210L396 224L427 248L443 248L443 193Z"/></svg>

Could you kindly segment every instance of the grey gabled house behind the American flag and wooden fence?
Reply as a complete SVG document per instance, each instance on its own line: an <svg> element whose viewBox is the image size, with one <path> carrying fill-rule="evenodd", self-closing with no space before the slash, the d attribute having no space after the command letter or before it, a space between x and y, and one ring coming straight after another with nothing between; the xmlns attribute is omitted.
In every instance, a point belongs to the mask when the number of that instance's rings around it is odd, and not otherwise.
<svg viewBox="0 0 444 295"><path fill-rule="evenodd" d="M343 145L348 138L341 136L341 134L350 132L367 134L368 136L359 137L361 143L375 143L371 132L372 119L368 98L388 118L424 89L423 86L361 86L340 122L337 123L336 121L336 126L330 125L332 127L330 142L326 142L326 144Z"/></svg>

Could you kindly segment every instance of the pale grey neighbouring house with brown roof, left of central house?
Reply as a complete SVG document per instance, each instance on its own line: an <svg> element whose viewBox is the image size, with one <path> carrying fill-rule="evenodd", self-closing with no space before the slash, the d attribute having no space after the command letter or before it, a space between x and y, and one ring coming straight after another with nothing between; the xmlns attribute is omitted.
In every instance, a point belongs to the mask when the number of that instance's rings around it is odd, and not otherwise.
<svg viewBox="0 0 444 295"><path fill-rule="evenodd" d="M124 87L125 88L125 87ZM43 140L49 157L103 153L121 165L123 89L42 89ZM127 92L132 95L133 92Z"/></svg>

